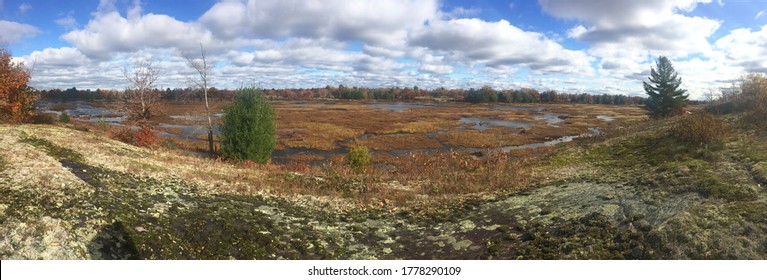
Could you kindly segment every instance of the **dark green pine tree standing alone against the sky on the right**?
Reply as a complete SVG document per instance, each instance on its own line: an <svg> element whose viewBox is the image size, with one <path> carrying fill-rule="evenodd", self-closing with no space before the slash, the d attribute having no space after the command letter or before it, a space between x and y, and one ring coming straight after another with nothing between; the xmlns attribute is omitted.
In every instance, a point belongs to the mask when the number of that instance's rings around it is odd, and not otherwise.
<svg viewBox="0 0 767 280"><path fill-rule="evenodd" d="M682 78L677 76L671 60L658 57L654 68L650 68L650 82L642 82L649 96L644 108L653 117L665 117L678 112L687 104L687 90L680 89Z"/></svg>

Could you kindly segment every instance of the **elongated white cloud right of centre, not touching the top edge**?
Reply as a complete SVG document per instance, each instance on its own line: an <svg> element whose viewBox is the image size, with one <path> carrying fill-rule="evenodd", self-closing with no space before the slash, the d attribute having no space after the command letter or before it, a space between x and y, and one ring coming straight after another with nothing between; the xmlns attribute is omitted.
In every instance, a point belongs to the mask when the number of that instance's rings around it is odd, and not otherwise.
<svg viewBox="0 0 767 280"><path fill-rule="evenodd" d="M541 73L590 71L590 58L584 52L567 50L540 33L524 31L505 20L430 22L411 41L467 65L524 66Z"/></svg>

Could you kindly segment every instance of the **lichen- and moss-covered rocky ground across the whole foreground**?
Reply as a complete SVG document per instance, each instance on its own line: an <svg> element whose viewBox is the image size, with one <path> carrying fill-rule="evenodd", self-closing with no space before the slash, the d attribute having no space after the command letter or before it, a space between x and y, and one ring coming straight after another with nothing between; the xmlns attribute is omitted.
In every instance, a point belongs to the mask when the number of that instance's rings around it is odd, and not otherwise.
<svg viewBox="0 0 767 280"><path fill-rule="evenodd" d="M269 170L2 125L0 258L767 258L767 135L731 124L722 147L690 148L674 122L563 147L536 163L549 179L522 189L396 208L275 195L258 185Z"/></svg>

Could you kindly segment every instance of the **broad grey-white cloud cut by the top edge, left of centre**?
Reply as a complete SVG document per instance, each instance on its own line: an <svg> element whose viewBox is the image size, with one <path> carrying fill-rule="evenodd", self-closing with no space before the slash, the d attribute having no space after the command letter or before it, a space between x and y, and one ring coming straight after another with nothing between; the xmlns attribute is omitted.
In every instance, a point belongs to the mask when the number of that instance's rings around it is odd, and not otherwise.
<svg viewBox="0 0 767 280"><path fill-rule="evenodd" d="M332 38L401 44L407 31L437 17L436 0L247 0L215 4L200 22L217 37Z"/></svg>

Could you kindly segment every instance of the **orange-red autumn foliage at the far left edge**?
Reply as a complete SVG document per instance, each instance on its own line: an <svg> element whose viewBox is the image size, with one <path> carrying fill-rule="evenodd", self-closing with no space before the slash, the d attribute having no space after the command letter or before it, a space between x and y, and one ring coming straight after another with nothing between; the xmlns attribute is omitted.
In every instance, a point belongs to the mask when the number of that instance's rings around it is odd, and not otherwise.
<svg viewBox="0 0 767 280"><path fill-rule="evenodd" d="M0 48L0 120L26 122L35 111L38 95L27 85L29 71L11 54Z"/></svg>

